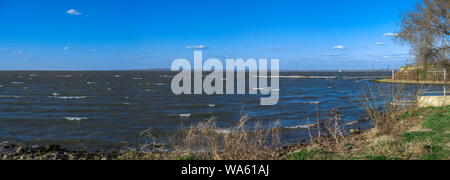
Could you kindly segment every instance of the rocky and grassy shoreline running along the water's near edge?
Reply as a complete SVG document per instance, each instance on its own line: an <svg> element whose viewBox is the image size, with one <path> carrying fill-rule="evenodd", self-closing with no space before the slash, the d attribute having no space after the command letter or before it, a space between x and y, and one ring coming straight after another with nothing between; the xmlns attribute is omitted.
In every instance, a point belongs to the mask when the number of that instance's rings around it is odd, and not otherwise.
<svg viewBox="0 0 450 180"><path fill-rule="evenodd" d="M276 154L273 160L450 160L450 106L409 109L397 123L385 134L377 127L353 131L331 147L304 142L270 151ZM186 152L158 151L164 145L151 146L149 152L87 152L0 142L0 160L208 160Z"/></svg>

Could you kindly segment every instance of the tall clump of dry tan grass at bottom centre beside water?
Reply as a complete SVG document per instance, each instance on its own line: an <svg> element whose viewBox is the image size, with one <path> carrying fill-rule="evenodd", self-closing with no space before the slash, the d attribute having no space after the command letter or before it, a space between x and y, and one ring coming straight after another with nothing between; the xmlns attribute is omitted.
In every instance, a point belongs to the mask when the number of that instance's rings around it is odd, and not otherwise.
<svg viewBox="0 0 450 180"><path fill-rule="evenodd" d="M263 130L261 124L256 123L249 129L249 120L250 117L242 116L234 127L226 131L216 126L215 118L191 126L182 133L174 152L202 160L278 159L278 128Z"/></svg>

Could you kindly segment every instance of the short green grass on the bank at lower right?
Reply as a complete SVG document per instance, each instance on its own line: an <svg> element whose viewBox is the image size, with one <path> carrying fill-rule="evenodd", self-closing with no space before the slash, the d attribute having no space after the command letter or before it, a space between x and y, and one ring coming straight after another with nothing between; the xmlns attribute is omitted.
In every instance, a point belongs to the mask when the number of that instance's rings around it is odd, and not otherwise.
<svg viewBox="0 0 450 180"><path fill-rule="evenodd" d="M361 151L335 154L324 150L301 150L291 154L287 160L450 160L450 106L423 108L418 112L407 112L402 118L425 117L421 123L427 131L406 132L391 142L383 142ZM411 146L415 145L415 146ZM386 147L390 147L386 151ZM420 150L416 152L408 149Z"/></svg>

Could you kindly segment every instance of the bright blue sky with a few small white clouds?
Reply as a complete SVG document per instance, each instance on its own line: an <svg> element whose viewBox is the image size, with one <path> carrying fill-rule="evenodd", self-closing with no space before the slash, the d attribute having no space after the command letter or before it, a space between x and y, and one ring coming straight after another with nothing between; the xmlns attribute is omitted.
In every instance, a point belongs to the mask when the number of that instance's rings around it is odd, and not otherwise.
<svg viewBox="0 0 450 180"><path fill-rule="evenodd" d="M0 70L170 68L176 58L279 58L284 70L398 68L419 0L0 0Z"/></svg>

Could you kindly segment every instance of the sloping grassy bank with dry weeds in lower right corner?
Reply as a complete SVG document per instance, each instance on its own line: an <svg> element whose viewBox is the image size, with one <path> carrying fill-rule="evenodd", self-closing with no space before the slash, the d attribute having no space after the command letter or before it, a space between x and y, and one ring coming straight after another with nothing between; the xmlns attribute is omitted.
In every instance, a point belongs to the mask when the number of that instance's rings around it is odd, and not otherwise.
<svg viewBox="0 0 450 180"><path fill-rule="evenodd" d="M377 129L348 137L344 150L309 146L287 160L450 160L450 106L405 112L400 130L378 135Z"/></svg>

